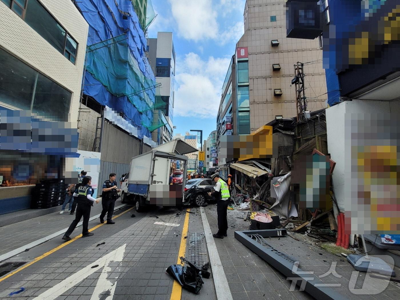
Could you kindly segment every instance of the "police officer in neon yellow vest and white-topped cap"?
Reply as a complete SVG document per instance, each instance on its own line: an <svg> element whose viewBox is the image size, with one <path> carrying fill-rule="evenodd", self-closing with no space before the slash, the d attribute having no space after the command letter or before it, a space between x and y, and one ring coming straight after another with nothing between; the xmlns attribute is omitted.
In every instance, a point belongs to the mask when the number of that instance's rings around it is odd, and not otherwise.
<svg viewBox="0 0 400 300"><path fill-rule="evenodd" d="M208 193L217 200L217 214L218 214L218 232L213 234L214 238L224 238L228 236L226 230L228 230L227 210L230 199L228 184L220 178L220 174L216 173L211 176L216 182L214 186L214 192Z"/></svg>

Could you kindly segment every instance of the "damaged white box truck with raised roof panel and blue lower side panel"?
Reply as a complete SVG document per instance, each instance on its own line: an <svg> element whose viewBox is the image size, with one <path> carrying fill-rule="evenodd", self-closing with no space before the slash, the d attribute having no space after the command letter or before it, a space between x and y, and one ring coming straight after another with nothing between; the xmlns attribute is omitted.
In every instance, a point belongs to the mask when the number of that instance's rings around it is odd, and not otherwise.
<svg viewBox="0 0 400 300"><path fill-rule="evenodd" d="M177 138L132 158L130 171L126 174L122 183L121 202L134 202L138 212L145 205L150 204L171 206L171 201L168 199L169 196L165 195L173 195L174 193L166 194L171 189L175 190L176 194L183 195L188 162L188 157L184 154L196 151L198 149ZM182 184L174 184L170 188L169 179L172 160L179 160L183 164L184 176ZM182 165L180 167L182 168ZM158 196L154 197L154 193L158 193ZM165 201L162 200L163 193ZM158 199L156 203L154 203L155 198ZM182 204L182 202L182 199L176 199L177 204Z"/></svg>

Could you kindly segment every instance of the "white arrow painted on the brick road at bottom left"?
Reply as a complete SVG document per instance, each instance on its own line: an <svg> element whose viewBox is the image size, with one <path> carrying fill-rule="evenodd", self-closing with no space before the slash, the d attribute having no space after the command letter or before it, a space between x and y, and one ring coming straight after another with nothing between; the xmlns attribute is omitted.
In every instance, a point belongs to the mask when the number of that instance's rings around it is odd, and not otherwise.
<svg viewBox="0 0 400 300"><path fill-rule="evenodd" d="M70 277L64 279L62 282L56 284L52 288L48 289L46 292L40 294L35 297L34 300L54 300L58 296L64 294L67 290L79 284L82 280L88 278L91 274L100 270L100 268L104 268L100 278L97 282L96 288L94 289L93 296L91 299L99 299L100 294L102 292L106 292L110 290L110 293L107 292L108 296L111 296L110 299L114 296L116 281L114 283L107 280L107 272L110 272L111 268L108 266L110 262L122 262L122 258L124 257L126 244L120 246L114 251L104 255L99 258L95 262L92 262L90 265L84 267L82 270L72 274ZM92 268L92 266L96 266Z"/></svg>

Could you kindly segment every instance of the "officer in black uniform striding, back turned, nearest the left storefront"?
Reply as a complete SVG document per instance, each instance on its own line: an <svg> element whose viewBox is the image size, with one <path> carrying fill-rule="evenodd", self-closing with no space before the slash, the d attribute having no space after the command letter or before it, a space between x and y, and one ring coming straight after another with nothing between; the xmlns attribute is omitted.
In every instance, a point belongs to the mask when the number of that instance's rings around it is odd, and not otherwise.
<svg viewBox="0 0 400 300"><path fill-rule="evenodd" d="M82 224L82 236L92 236L93 233L88 231L89 218L90 218L90 208L92 208L93 203L99 203L100 200L96 200L92 197L93 189L90 186L92 183L92 177L86 176L82 180L82 184L74 192L74 197L77 198L78 207L76 208L75 220L72 221L67 232L62 237L63 240L71 240L70 234L74 231L76 225L78 225L80 219L83 216Z"/></svg>

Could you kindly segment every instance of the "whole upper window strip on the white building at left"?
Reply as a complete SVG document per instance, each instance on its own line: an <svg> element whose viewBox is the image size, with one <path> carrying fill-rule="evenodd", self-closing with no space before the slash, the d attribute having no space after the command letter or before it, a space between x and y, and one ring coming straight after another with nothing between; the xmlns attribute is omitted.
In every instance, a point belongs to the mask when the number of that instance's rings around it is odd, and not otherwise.
<svg viewBox="0 0 400 300"><path fill-rule="evenodd" d="M0 1L20 16L26 24L32 27L70 62L76 63L78 43L38 0Z"/></svg>

